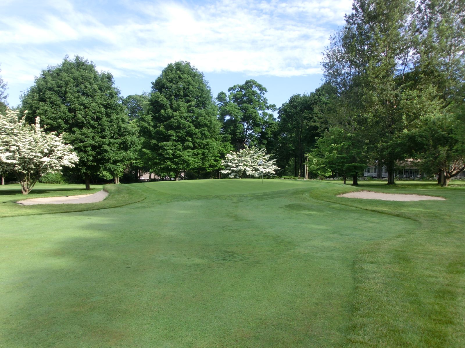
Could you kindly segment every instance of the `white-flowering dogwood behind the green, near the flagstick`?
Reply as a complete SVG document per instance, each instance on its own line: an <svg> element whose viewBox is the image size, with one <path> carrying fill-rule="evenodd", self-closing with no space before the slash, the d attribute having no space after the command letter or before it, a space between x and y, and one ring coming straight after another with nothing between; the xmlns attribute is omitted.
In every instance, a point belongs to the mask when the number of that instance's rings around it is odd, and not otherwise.
<svg viewBox="0 0 465 348"><path fill-rule="evenodd" d="M222 174L228 175L229 178L242 178L244 175L259 177L260 175L275 174L275 160L270 161L271 155L266 155L266 148L246 148L240 149L239 152L230 152L226 154L222 165L225 169L221 170Z"/></svg>

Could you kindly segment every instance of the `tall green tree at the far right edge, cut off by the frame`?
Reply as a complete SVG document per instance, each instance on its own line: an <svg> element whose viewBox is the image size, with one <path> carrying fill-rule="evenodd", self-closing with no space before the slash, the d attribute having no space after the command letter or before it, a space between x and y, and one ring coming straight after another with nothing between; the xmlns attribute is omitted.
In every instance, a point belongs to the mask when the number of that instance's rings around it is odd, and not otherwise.
<svg viewBox="0 0 465 348"><path fill-rule="evenodd" d="M426 96L412 130L413 156L438 183L465 169L465 2L421 0L411 84Z"/></svg>

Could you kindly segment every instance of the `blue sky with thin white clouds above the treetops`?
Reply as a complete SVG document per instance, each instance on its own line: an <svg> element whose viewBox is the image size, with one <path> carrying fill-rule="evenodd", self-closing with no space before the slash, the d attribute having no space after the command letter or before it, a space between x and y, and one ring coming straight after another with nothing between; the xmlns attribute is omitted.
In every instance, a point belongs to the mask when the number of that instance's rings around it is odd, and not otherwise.
<svg viewBox="0 0 465 348"><path fill-rule="evenodd" d="M279 107L321 84L321 52L351 0L1 0L1 76L20 103L34 76L68 55L110 71L121 95L151 89L169 63L202 71L213 97L253 78Z"/></svg>

